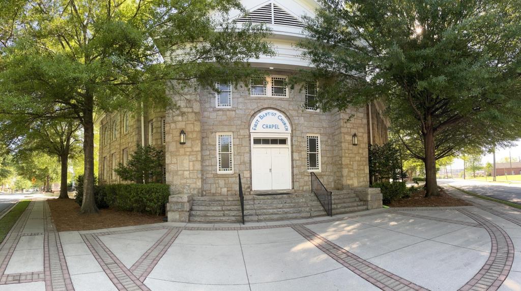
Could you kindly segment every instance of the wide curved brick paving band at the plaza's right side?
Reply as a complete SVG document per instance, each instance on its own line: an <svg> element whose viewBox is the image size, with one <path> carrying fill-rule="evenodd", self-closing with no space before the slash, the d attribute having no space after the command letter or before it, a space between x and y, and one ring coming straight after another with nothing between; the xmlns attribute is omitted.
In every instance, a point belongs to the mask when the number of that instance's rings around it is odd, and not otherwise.
<svg viewBox="0 0 521 291"><path fill-rule="evenodd" d="M460 212L481 224L488 231L492 241L487 262L460 290L497 290L505 281L514 262L512 240L501 227L488 219L467 209L460 209Z"/></svg>

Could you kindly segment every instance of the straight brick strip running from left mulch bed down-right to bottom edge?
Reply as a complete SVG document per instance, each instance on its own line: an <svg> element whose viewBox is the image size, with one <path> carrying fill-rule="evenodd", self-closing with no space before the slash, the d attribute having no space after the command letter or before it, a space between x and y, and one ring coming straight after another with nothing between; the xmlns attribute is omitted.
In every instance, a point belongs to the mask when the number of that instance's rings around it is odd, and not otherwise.
<svg viewBox="0 0 521 291"><path fill-rule="evenodd" d="M118 290L150 290L94 234L82 234L92 255Z"/></svg>

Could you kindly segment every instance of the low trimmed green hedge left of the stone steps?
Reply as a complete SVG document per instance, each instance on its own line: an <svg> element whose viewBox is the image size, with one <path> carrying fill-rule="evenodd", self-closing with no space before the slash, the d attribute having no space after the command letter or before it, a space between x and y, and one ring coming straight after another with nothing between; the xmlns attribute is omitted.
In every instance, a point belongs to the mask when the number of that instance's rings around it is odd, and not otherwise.
<svg viewBox="0 0 521 291"><path fill-rule="evenodd" d="M170 195L166 184L111 184L103 186L110 208L160 215Z"/></svg>

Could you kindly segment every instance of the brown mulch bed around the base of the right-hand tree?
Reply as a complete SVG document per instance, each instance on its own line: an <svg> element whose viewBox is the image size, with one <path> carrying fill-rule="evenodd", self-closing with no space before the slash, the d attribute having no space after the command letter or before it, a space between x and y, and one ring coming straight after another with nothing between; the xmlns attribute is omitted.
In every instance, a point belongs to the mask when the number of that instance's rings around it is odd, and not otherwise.
<svg viewBox="0 0 521 291"><path fill-rule="evenodd" d="M471 205L467 201L454 198L447 194L442 188L438 187L439 196L425 197L425 190L411 194L410 198L399 199L387 205L389 207L440 207L440 206L468 206Z"/></svg>

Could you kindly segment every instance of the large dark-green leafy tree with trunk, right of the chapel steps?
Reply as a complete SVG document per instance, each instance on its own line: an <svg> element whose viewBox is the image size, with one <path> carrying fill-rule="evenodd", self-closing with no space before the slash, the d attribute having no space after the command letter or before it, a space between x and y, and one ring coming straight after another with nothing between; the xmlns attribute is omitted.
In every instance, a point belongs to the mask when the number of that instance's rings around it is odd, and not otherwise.
<svg viewBox="0 0 521 291"><path fill-rule="evenodd" d="M424 162L521 135L521 1L322 0L304 49L324 109L382 98L393 130Z"/></svg>

